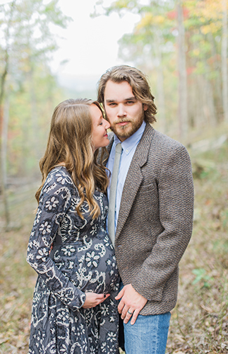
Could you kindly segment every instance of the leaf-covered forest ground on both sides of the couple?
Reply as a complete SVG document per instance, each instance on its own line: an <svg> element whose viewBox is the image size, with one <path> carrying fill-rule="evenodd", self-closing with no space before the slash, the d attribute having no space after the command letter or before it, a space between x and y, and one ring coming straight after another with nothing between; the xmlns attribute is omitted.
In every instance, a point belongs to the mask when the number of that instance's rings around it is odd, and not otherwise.
<svg viewBox="0 0 228 354"><path fill-rule="evenodd" d="M180 264L179 299L172 311L167 354L228 353L227 156L227 144L200 158L192 155L195 222ZM1 228L0 354L28 353L36 280L25 261L36 207L32 194L11 210L11 218L17 220L14 229Z"/></svg>

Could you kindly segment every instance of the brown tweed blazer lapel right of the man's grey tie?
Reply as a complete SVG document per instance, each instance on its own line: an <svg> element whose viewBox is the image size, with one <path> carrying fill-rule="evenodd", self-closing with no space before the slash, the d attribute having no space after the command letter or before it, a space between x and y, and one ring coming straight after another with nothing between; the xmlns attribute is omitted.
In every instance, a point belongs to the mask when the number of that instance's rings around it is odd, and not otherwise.
<svg viewBox="0 0 228 354"><path fill-rule="evenodd" d="M131 161L131 165L128 169L128 174L126 176L126 181L124 183L124 189L121 197L121 205L116 227L116 238L119 236L121 230L124 227L126 219L133 205L133 201L136 198L138 188L143 181L141 167L148 160L148 153L154 133L155 130L152 128L152 126L147 124L145 126L143 136L138 143L138 147L136 148L136 152Z"/></svg>

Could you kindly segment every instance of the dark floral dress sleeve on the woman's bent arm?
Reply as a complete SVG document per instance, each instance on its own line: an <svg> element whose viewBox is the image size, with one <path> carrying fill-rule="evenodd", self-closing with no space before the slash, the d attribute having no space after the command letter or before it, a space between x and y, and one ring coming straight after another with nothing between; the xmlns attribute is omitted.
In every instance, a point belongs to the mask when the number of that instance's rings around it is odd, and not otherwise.
<svg viewBox="0 0 228 354"><path fill-rule="evenodd" d="M27 261L53 294L73 311L83 306L85 294L75 287L49 257L59 224L71 206L73 183L64 171L47 176L28 243Z"/></svg>

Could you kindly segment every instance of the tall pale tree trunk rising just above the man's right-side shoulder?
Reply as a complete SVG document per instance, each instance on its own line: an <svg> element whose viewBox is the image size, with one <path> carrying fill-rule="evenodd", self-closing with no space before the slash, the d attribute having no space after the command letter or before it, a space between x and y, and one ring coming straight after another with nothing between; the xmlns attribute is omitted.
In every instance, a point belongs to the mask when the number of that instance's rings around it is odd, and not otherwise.
<svg viewBox="0 0 228 354"><path fill-rule="evenodd" d="M178 72L179 72L179 138L186 139L188 133L187 74L184 40L184 16L182 1L177 0L178 19Z"/></svg>

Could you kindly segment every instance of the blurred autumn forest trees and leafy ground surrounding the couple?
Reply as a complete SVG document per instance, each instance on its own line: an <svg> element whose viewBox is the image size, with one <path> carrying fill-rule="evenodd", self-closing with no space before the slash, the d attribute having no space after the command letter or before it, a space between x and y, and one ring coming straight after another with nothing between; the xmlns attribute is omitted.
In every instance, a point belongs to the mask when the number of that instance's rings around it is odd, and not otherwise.
<svg viewBox="0 0 228 354"><path fill-rule="evenodd" d="M167 353L228 353L228 1L145 3L100 0L91 16L138 14L119 40L119 57L147 74L155 129L191 154L193 237L181 260ZM0 4L0 353L28 353L36 275L25 255L52 112L66 98L96 97L64 89L52 74L52 25L69 21L58 0Z"/></svg>

